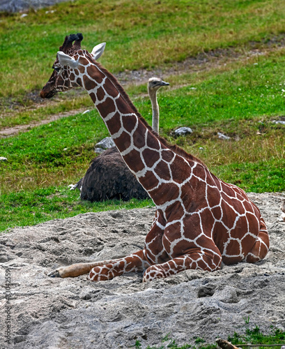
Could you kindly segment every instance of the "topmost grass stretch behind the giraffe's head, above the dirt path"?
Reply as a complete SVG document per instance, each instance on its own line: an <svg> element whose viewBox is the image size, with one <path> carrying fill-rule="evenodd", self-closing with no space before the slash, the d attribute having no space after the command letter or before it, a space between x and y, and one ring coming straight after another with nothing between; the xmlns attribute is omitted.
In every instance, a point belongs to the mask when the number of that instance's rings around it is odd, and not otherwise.
<svg viewBox="0 0 285 349"><path fill-rule="evenodd" d="M84 34L84 47L107 42L102 63L112 72L153 68L199 52L245 47L284 34L282 0L77 0L49 10L0 14L0 80L6 97L22 101L40 89L52 60L70 33ZM126 20L128 19L128 20ZM21 97L22 96L22 97Z"/></svg>

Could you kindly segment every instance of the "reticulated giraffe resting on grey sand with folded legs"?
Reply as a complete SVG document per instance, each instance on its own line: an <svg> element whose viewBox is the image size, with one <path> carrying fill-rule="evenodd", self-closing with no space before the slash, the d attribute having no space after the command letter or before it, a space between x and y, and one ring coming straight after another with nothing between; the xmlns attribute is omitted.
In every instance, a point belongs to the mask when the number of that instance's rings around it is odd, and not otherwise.
<svg viewBox="0 0 285 349"><path fill-rule="evenodd" d="M213 272L241 261L265 258L268 231L245 191L217 178L198 158L170 145L139 114L116 78L98 63L105 43L82 50L82 34L66 36L54 71L40 93L84 87L118 151L156 206L142 250L117 260L59 267L49 276L88 274L105 281L127 272L144 272L143 281L186 269Z"/></svg>

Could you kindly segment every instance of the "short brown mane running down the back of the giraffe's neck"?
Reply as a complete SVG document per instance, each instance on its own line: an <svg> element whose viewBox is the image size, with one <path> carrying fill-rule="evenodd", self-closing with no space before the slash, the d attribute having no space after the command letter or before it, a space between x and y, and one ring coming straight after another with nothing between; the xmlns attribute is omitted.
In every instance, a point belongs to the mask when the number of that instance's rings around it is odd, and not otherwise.
<svg viewBox="0 0 285 349"><path fill-rule="evenodd" d="M89 54L88 56L89 58L92 59L91 55ZM167 142L167 140L165 140L164 138L162 138L160 135L158 135L155 131L153 131L153 128L151 128L151 126L148 125L148 123L146 122L146 120L144 119L144 117L141 116L141 114L139 113L139 111L137 110L137 108L134 106L134 104L132 103L132 101L130 100L130 97L128 96L128 94L125 92L125 90L123 89L123 87L121 86L121 84L118 83L118 80L116 80L116 77L114 77L114 75L112 75L106 68L104 68L102 66L102 64L100 64L98 61L94 61L94 59L92 59L93 63L95 63L98 68L100 68L100 70L102 70L103 73L105 73L105 75L107 75L107 77L109 77L109 80L111 80L112 84L114 84L114 86L116 87L116 89L119 91L119 93L121 94L121 96L123 97L123 99L125 100L126 103L128 103L128 105L130 105L130 107L132 108L133 112L137 115L137 117L139 117L139 119L141 120L141 122L146 126L146 128L148 128L148 131L151 132L153 135L155 135L155 137L160 140L160 142L162 144L164 144L167 148L171 149L171 151L174 151L174 153L176 153L179 156L182 156L183 158L190 160L190 161L196 161L197 163L201 163L201 165L205 166L206 165L203 163L203 161L201 161L199 158L197 158L196 156L187 153L187 151L185 151L184 149L178 147L176 144L170 144L169 142Z"/></svg>

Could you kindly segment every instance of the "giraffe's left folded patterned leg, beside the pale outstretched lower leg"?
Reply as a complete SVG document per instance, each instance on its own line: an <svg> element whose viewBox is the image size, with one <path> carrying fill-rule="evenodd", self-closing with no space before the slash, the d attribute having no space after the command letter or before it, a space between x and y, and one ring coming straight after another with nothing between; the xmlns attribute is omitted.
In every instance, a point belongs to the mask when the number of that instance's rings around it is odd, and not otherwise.
<svg viewBox="0 0 285 349"><path fill-rule="evenodd" d="M106 281L125 273L143 272L149 266L150 263L146 260L145 251L141 250L106 265L93 267L88 279L91 281Z"/></svg>

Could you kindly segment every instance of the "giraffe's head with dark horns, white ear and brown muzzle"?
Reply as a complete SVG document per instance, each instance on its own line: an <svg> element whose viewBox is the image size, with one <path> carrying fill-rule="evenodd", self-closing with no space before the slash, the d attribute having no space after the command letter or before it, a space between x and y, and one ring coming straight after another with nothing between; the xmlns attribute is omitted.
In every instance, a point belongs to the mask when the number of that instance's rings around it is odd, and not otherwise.
<svg viewBox="0 0 285 349"><path fill-rule="evenodd" d="M83 85L85 67L101 56L106 44L96 45L89 53L82 50L82 39L81 33L66 36L63 45L59 47L59 52L56 54L56 60L52 66L54 69L52 76L49 77L49 81L40 92L42 98L52 98L56 92L68 91Z"/></svg>

